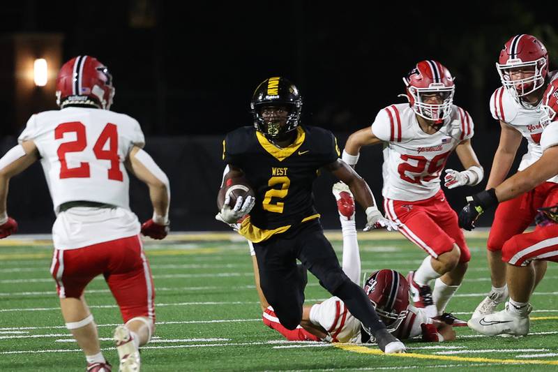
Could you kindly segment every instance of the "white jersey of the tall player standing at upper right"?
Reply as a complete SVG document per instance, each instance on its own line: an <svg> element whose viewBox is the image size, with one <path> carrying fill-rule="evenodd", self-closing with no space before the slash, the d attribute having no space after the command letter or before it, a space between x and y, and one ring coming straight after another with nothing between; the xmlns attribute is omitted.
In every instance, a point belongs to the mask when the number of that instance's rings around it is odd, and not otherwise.
<svg viewBox="0 0 558 372"><path fill-rule="evenodd" d="M552 72L550 76L552 81L558 77L558 74ZM499 87L490 97L490 113L494 119L503 121L519 131L527 140L527 153L521 158L518 170L524 170L541 158L543 155L541 135L544 130L539 123L541 103L531 109L523 107L515 102L507 89ZM558 183L558 177L552 177L548 181Z"/></svg>

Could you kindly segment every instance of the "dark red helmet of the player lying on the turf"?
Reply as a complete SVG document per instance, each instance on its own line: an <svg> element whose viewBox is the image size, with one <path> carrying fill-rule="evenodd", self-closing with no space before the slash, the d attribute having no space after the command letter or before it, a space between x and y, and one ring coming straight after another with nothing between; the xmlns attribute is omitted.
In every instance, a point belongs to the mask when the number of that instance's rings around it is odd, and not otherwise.
<svg viewBox="0 0 558 372"><path fill-rule="evenodd" d="M409 282L395 270L378 270L364 283L364 292L389 332L405 320L409 306Z"/></svg>

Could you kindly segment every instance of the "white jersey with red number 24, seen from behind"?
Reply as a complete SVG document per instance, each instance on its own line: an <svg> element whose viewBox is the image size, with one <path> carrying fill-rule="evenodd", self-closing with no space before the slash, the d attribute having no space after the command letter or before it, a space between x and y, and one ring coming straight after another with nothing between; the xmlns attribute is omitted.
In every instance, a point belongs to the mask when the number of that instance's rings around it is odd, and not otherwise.
<svg viewBox="0 0 558 372"><path fill-rule="evenodd" d="M80 248L140 232L129 207L124 161L134 145L144 146L140 124L109 110L67 107L33 114L18 141L32 140L54 204L54 247ZM61 204L90 201L114 209L71 208Z"/></svg>

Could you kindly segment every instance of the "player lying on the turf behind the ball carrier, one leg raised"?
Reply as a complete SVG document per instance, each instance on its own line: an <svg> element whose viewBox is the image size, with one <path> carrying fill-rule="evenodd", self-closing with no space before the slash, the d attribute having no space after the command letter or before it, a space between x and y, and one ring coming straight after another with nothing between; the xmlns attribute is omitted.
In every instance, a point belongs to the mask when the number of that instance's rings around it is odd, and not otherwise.
<svg viewBox="0 0 558 372"><path fill-rule="evenodd" d="M342 268L354 283L359 284L361 257L359 242L356 239L354 200L347 185L341 182L333 185L333 195L337 200L343 235ZM257 261L253 249L250 253L265 325L276 329L289 341L375 342L373 337L363 332L361 322L352 316L338 297L330 297L320 304L304 306L301 325L293 330L283 327L259 288ZM409 305L409 283L397 271L375 271L365 281L364 290L382 322L397 338L404 340L422 336L423 341L455 339L453 327L433 320L423 309Z"/></svg>

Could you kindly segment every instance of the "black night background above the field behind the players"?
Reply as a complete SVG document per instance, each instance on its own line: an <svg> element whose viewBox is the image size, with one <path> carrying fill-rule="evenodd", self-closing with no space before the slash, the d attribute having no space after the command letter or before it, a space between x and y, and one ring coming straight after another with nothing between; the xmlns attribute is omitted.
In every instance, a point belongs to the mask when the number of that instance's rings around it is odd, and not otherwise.
<svg viewBox="0 0 558 372"><path fill-rule="evenodd" d="M4 36L63 34L63 61L79 54L103 61L116 87L112 110L140 121L147 151L172 181L174 230L218 230L222 227L211 218L223 135L251 123L252 91L271 75L299 87L303 122L330 129L342 147L347 135L368 126L378 110L402 102L397 97L403 93L401 78L417 61L438 59L456 77L454 103L472 114L473 146L488 178L499 138L488 110L499 87L499 51L515 34L534 34L548 48L554 69L554 8L544 1L327 6L318 1L27 0L3 3L0 31ZM44 110L54 108L53 97ZM24 122L2 121L5 152ZM357 168L379 204L381 163L381 149L365 149ZM455 156L448 166L461 169ZM54 221L41 173L34 165L12 181L8 211L20 219L22 231L45 232ZM338 228L330 185L329 179L319 180L316 199L324 226ZM448 192L448 200L458 209L465 195L481 188ZM140 218L149 218L144 186L133 184L131 200ZM490 224L490 215L482 224Z"/></svg>

